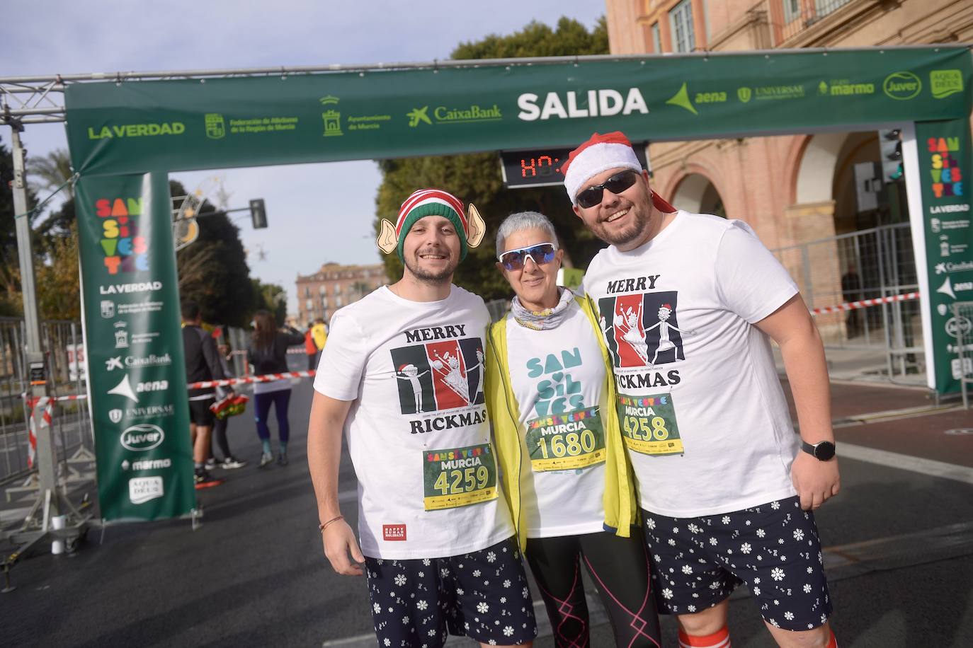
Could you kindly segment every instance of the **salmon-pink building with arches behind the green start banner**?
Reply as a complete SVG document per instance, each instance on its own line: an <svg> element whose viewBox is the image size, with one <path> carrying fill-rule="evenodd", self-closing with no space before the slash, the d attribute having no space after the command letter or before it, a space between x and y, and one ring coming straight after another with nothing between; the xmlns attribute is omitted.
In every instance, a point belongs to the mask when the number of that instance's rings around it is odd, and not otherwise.
<svg viewBox="0 0 973 648"><path fill-rule="evenodd" d="M606 8L609 44L617 54L973 42L973 0L606 0ZM887 225L908 236L906 227L895 227L908 222L903 183L889 184L879 207L863 206L856 193L855 165L881 165L884 135L650 144L653 187L676 207L743 220L769 248L787 249L778 256L811 307L878 296L878 288L855 294L842 286L852 268L857 285L877 282L883 263L844 245L858 245L854 232ZM831 243L804 245L822 239ZM890 249L908 247L903 239ZM852 284L846 281L846 289ZM830 329L840 337L850 335L845 324L842 316L818 319L822 333Z"/></svg>

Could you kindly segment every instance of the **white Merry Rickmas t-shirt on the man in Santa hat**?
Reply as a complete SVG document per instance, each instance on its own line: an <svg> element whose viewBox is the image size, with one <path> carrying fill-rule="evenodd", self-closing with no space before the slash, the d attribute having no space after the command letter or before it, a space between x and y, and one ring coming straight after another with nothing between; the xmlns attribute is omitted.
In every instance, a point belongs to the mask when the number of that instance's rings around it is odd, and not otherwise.
<svg viewBox="0 0 973 648"><path fill-rule="evenodd" d="M599 252L585 289L642 508L693 517L796 495L798 436L753 324L798 290L746 223L680 211L645 245Z"/></svg>

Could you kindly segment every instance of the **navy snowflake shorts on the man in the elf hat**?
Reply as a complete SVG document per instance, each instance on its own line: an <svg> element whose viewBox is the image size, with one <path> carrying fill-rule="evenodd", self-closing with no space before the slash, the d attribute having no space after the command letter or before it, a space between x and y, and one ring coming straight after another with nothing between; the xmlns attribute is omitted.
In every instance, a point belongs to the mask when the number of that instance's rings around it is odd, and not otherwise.
<svg viewBox="0 0 973 648"><path fill-rule="evenodd" d="M439 648L447 633L489 645L537 634L521 552L514 537L449 558L365 558L379 647Z"/></svg>

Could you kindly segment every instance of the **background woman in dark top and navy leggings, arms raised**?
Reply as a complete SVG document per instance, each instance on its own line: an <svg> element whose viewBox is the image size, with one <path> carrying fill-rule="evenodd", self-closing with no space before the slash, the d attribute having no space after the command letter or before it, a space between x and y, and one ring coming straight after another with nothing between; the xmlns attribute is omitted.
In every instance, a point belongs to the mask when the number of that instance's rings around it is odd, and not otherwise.
<svg viewBox="0 0 973 648"><path fill-rule="evenodd" d="M287 347L304 344L305 337L297 329L277 329L277 323L269 311L258 311L253 318L254 331L247 347L247 361L253 365L258 376L269 373L285 373L287 368ZM290 437L290 424L287 420L287 406L291 400L291 381L288 378L254 383L254 415L257 421L257 435L264 444L260 465L264 467L273 460L270 452L270 405L275 408L279 448L277 463L287 465L287 440Z"/></svg>

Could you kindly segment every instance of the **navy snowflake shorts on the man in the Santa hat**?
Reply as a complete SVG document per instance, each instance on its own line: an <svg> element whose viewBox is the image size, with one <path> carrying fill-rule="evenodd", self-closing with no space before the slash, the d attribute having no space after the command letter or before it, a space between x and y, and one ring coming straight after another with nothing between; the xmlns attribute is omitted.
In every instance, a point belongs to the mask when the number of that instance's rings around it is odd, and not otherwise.
<svg viewBox="0 0 973 648"><path fill-rule="evenodd" d="M699 612L746 583L777 628L812 630L831 615L817 526L797 496L696 518L642 515L661 613Z"/></svg>

